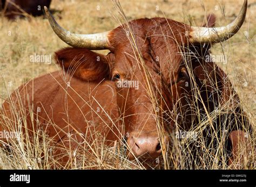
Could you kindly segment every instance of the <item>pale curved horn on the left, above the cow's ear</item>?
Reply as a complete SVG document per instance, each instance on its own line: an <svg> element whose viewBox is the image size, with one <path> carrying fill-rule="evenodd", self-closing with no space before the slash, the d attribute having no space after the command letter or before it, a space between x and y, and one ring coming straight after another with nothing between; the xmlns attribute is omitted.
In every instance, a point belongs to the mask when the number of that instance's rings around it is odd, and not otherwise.
<svg viewBox="0 0 256 187"><path fill-rule="evenodd" d="M71 33L59 26L46 6L44 6L44 10L53 31L60 39L66 42L66 44L69 44L72 47L83 47L91 50L110 48L108 35L111 33L111 31L96 34Z"/></svg>

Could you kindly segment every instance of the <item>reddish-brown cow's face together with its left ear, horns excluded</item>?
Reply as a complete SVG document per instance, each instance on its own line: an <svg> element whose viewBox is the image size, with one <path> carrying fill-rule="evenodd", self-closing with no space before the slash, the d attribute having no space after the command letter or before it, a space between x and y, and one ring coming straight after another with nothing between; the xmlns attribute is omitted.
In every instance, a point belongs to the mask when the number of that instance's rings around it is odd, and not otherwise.
<svg viewBox="0 0 256 187"><path fill-rule="evenodd" d="M191 125L191 71L182 55L189 27L165 18L129 26L132 30L120 26L109 35L112 49L106 56L66 48L56 52L56 60L85 81L112 81L129 158L155 158L171 143L177 124Z"/></svg>

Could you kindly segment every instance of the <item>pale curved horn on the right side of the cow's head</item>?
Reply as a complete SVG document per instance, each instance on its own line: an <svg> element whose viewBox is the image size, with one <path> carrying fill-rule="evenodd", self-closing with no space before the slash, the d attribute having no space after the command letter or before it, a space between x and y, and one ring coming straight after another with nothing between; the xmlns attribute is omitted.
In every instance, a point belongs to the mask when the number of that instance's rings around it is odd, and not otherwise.
<svg viewBox="0 0 256 187"><path fill-rule="evenodd" d="M190 30L190 42L192 43L218 43L231 38L238 32L239 28L244 23L247 10L247 0L244 1L242 9L240 10L237 18L232 23L222 27L193 27Z"/></svg>

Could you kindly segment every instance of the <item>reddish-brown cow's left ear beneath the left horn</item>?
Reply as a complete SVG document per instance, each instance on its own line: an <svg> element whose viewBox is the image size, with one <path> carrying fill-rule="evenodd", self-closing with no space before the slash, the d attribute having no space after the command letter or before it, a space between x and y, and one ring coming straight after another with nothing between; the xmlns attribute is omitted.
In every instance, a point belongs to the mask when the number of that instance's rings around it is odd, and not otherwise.
<svg viewBox="0 0 256 187"><path fill-rule="evenodd" d="M63 48L55 52L55 60L72 76L85 81L110 78L110 67L105 55L85 48Z"/></svg>

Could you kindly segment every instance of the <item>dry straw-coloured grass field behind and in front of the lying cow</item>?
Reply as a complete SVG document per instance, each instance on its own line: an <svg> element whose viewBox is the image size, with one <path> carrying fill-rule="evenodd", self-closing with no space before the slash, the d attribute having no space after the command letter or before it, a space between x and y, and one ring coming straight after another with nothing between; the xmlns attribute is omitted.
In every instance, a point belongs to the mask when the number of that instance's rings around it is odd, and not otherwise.
<svg viewBox="0 0 256 187"><path fill-rule="evenodd" d="M201 26L208 13L217 17L216 26L227 25L238 15L243 1L120 1L127 19L166 17L186 24ZM248 1L247 15L244 24L237 34L230 40L213 45L211 52L214 55L224 54L226 63L218 65L227 73L235 91L237 91L242 106L247 112L251 123L255 126L256 96L255 96L255 65L256 65L256 1ZM76 33L96 33L112 30L120 25L119 15L112 1L83 1L83 0L53 0L50 6L58 23L64 28ZM0 105L8 94L19 85L28 82L34 77L50 73L58 69L53 58L49 63L32 63L30 56L33 54L51 55L58 49L67 45L52 31L48 20L41 17L31 17L9 21L0 17ZM100 51L107 54L107 51ZM35 140L35 142L37 142ZM254 146L255 140L252 140ZM49 142L45 145L33 144L33 149L25 150L16 147L7 152L0 150L0 168L2 169L49 169L48 162L51 155L46 154ZM119 153L107 152L104 145L99 143L98 156L83 157L82 161L71 163L64 169L144 169L137 162L120 159ZM38 161L35 153L42 152L49 156L49 160ZM31 156L33 155L33 156ZM22 159L21 159L22 157ZM248 163L254 162L255 156L248 157ZM55 168L62 168L55 164ZM165 169L184 169L179 164L163 167ZM253 164L240 169L254 169ZM190 167L185 167L190 169ZM228 169L220 168L214 164L200 166L197 169Z"/></svg>

